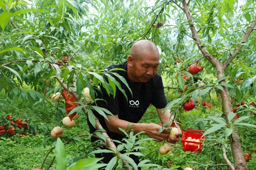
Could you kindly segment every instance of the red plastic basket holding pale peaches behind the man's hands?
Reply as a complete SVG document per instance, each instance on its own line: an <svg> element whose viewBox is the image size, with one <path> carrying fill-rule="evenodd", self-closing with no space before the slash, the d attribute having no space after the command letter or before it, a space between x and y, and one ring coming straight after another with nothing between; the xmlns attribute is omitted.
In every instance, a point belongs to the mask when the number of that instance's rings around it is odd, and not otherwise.
<svg viewBox="0 0 256 170"><path fill-rule="evenodd" d="M203 135L204 130L196 130L186 128L184 134L182 135L181 141L183 145L183 151L192 151L192 152L201 152L202 150L202 143L204 142L205 136L201 138ZM200 139L200 142L194 142L186 140L188 137Z"/></svg>

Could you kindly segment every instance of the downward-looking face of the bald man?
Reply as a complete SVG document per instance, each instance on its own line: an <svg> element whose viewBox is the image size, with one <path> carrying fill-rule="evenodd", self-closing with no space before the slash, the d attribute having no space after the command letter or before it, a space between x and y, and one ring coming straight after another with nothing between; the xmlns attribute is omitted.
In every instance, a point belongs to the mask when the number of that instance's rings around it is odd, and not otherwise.
<svg viewBox="0 0 256 170"><path fill-rule="evenodd" d="M155 53L144 54L133 61L131 75L136 82L147 82L152 78L159 66L159 56Z"/></svg>

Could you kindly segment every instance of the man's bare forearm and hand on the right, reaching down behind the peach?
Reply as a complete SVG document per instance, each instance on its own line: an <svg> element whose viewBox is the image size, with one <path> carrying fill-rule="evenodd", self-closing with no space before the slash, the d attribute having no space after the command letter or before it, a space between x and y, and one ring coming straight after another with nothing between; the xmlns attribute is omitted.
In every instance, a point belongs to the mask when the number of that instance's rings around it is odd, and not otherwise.
<svg viewBox="0 0 256 170"><path fill-rule="evenodd" d="M174 115L170 118L171 113L170 113L170 109L168 109L165 113L163 109L156 109L159 119L161 121L161 123L163 124L166 121L170 121L172 123L173 119L174 119ZM166 125L166 127L170 127L171 123ZM180 127L176 124L176 122L174 121L174 125L173 127L178 128L178 134L176 134L176 138L167 138L167 142L170 143L176 143L180 140L180 137L182 136L182 131L180 129Z"/></svg>

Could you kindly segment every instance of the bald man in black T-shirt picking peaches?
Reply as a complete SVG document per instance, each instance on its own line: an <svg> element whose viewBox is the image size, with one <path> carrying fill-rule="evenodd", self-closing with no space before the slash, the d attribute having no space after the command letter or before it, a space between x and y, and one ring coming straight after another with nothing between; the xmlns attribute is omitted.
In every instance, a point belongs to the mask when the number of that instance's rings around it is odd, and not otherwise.
<svg viewBox="0 0 256 170"><path fill-rule="evenodd" d="M102 127L107 131L110 138L121 141L125 136L118 128L127 129L128 125L133 125L130 127L130 130L134 130L134 133L144 131L144 134L158 141L167 140L168 142L175 143L180 140L182 132L176 123L175 125L179 130L179 134L176 138L169 138L170 130L167 129L158 134L158 130L162 128L162 126L158 124L138 123L150 103L156 107L156 111L162 123L172 121L172 119L170 119L170 110L166 113L163 113L162 110L167 105L167 101L164 95L162 78L156 73L158 66L159 52L156 45L149 40L140 40L132 45L128 61L107 67L108 70L114 68L126 70L113 72L124 77L132 90L131 94L126 85L118 78L117 80L120 82L122 89L126 92L128 100L118 88L116 88L115 97L113 97L113 95L109 96L106 90L102 88L102 96L99 98L105 101L97 101L97 105L108 109L114 116L107 115L108 121L98 113L94 112L94 114L98 117ZM95 131L92 125L89 127L91 133ZM95 138L92 138L92 141L95 140ZM104 163L108 163L113 157L110 153L96 154L96 157L103 156ZM139 163L137 156L130 156L134 159L136 164Z"/></svg>

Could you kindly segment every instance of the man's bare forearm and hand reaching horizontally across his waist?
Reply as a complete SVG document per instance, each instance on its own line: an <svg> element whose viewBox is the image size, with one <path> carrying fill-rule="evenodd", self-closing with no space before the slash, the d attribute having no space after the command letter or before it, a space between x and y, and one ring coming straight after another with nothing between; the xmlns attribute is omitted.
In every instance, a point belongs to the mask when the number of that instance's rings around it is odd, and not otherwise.
<svg viewBox="0 0 256 170"><path fill-rule="evenodd" d="M118 115L107 115L108 120L105 119L106 125L111 132L123 134L119 128L127 129L128 125L134 125L130 127L130 130L134 130L135 133L144 131L150 138L155 138L158 141L166 140L169 136L170 130L165 129L158 135L158 130L162 128L155 123L131 123L118 118Z"/></svg>

